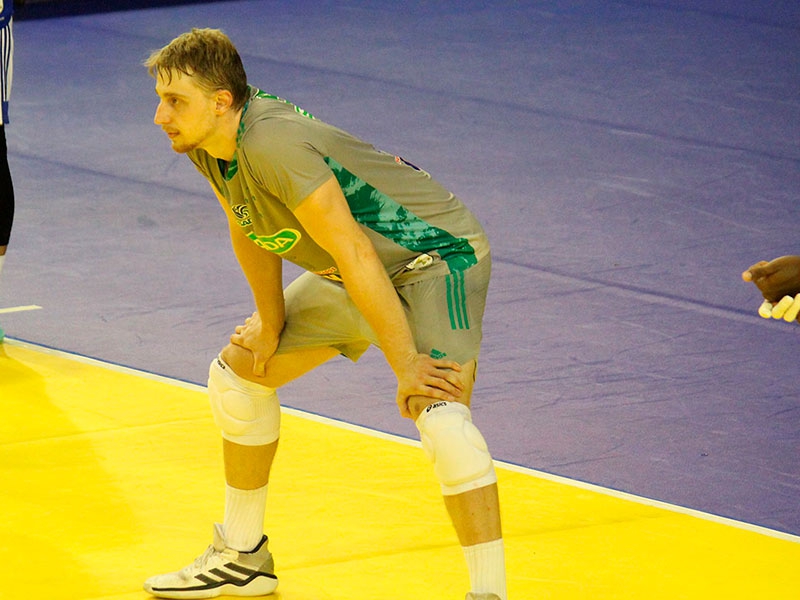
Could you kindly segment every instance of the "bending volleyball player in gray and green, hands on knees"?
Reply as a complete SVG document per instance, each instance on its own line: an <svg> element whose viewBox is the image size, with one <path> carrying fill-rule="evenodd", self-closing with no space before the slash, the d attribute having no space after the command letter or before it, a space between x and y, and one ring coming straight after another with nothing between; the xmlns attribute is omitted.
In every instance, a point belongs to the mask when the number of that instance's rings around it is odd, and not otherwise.
<svg viewBox="0 0 800 600"><path fill-rule="evenodd" d="M145 589L165 598L275 590L263 535L275 390L374 344L441 483L467 598L506 600L497 479L469 409L491 268L479 223L424 171L249 86L220 31L193 29L145 66L160 98L155 123L211 183L256 306L209 371L224 522L205 554ZM308 271L285 291L282 259Z"/></svg>

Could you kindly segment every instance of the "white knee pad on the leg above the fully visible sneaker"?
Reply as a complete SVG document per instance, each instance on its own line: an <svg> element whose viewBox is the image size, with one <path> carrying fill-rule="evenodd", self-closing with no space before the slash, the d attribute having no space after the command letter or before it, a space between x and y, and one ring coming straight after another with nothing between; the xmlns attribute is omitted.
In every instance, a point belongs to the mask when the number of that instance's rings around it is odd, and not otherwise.
<svg viewBox="0 0 800 600"><path fill-rule="evenodd" d="M242 379L222 357L211 361L208 397L214 422L229 442L264 446L280 436L278 394L272 388Z"/></svg>

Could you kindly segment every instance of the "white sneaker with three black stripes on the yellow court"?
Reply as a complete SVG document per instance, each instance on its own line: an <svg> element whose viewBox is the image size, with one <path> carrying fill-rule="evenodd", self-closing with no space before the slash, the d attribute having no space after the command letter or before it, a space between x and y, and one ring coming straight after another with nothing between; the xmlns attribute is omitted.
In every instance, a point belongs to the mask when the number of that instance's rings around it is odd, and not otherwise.
<svg viewBox="0 0 800 600"><path fill-rule="evenodd" d="M267 549L267 536L250 552L225 546L222 525L214 525L214 543L202 556L174 573L156 575L144 589L157 598L216 598L266 596L278 587L275 562Z"/></svg>

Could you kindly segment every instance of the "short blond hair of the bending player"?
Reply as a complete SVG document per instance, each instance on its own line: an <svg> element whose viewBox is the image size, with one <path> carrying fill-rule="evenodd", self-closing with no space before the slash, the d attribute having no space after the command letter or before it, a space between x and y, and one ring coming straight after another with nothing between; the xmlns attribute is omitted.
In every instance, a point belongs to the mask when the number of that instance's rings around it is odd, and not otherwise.
<svg viewBox="0 0 800 600"><path fill-rule="evenodd" d="M162 75L171 81L178 72L194 77L208 92L228 90L235 109L242 108L247 101L247 74L242 59L219 29L194 28L179 35L154 51L144 66L153 77Z"/></svg>

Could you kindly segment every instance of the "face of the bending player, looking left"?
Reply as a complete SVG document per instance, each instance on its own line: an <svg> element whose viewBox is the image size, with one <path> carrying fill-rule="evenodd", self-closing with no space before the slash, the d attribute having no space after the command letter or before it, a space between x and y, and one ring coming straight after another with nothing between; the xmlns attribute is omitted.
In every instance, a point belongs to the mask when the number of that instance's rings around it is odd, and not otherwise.
<svg viewBox="0 0 800 600"><path fill-rule="evenodd" d="M153 121L160 125L175 152L184 154L203 148L216 129L215 99L194 77L173 71L172 77L159 73L156 94L160 98Z"/></svg>

